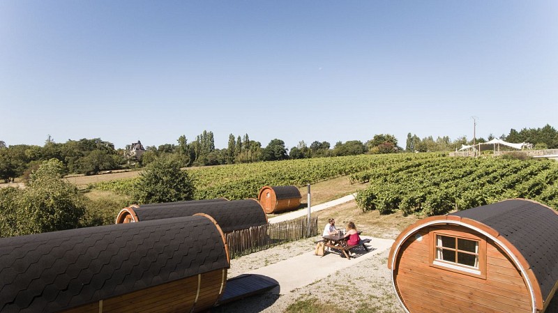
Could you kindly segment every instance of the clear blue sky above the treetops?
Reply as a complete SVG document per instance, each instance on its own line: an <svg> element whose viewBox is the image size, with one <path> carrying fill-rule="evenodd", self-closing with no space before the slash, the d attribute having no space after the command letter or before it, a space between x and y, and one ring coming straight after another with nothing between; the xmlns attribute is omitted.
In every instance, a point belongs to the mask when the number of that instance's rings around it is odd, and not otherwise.
<svg viewBox="0 0 558 313"><path fill-rule="evenodd" d="M558 1L0 0L0 140L558 127Z"/></svg>

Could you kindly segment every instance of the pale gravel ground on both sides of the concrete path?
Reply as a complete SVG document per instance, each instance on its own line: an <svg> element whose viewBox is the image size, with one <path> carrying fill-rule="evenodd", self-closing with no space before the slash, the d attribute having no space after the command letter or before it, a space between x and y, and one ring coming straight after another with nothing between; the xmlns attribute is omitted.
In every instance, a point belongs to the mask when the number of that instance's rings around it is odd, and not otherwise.
<svg viewBox="0 0 558 313"><path fill-rule="evenodd" d="M250 270L306 253L313 249L317 238L319 237L307 238L232 259L227 276L236 277ZM286 295L264 293L216 307L211 312L284 312L297 300L314 298L320 302L333 303L330 298L331 289L336 289L335 293L338 293L338 297L347 303L345 307L353 308L354 312L363 308L368 308L367 312L403 312L391 286L390 272L386 266L388 254L389 250L386 250L345 270L338 270L323 280L294 289ZM355 298L355 290L345 288L351 283L358 287L360 296Z"/></svg>

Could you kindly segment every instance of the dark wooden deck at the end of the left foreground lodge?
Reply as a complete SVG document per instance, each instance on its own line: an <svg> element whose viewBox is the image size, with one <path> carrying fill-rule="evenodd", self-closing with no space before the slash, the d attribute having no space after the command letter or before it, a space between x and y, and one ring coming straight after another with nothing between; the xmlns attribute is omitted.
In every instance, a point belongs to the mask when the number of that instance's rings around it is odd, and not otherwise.
<svg viewBox="0 0 558 313"><path fill-rule="evenodd" d="M227 280L225 292L217 302L217 305L230 303L241 298L264 293L275 287L279 283L271 277L257 274L243 274Z"/></svg>

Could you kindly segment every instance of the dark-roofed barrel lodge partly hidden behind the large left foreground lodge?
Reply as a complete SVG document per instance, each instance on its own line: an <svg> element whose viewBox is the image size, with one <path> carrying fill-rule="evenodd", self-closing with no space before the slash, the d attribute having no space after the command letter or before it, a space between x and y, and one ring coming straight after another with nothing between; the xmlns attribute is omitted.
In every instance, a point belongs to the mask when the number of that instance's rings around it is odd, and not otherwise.
<svg viewBox="0 0 558 313"><path fill-rule="evenodd" d="M167 203L161 206L128 206L116 217L117 223L144 222L204 213L213 217L225 234L267 224L267 216L255 199L211 201L197 204Z"/></svg>

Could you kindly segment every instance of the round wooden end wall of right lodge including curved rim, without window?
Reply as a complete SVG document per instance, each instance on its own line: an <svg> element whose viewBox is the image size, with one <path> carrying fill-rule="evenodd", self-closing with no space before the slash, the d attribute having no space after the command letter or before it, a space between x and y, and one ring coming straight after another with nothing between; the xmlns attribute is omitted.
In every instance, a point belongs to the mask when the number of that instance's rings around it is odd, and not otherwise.
<svg viewBox="0 0 558 313"><path fill-rule="evenodd" d="M388 267L396 296L407 312L537 312L536 279L522 257L476 221L428 217L402 231L391 247ZM480 227L479 227L480 226ZM431 232L449 230L486 240L485 279L430 266ZM421 236L418 241L416 235ZM496 234L497 235L497 234ZM539 298L540 299L540 298Z"/></svg>

